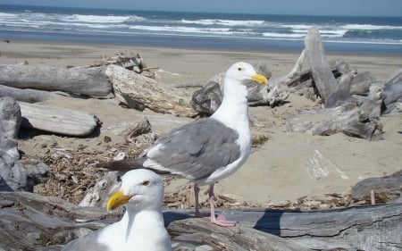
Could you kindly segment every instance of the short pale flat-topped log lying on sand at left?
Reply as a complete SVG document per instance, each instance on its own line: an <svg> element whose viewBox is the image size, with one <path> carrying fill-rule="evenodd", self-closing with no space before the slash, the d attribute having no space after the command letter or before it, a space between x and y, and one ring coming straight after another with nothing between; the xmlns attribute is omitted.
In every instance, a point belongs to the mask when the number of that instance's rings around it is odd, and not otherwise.
<svg viewBox="0 0 402 251"><path fill-rule="evenodd" d="M81 137L91 134L97 126L97 118L88 113L46 105L19 104L23 127Z"/></svg>

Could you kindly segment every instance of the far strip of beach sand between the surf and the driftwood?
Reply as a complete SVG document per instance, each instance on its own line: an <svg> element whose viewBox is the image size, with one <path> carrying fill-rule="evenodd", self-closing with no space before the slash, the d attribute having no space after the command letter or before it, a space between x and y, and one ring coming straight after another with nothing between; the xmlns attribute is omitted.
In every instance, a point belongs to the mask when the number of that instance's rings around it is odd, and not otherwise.
<svg viewBox="0 0 402 251"><path fill-rule="evenodd" d="M325 49L325 48L324 48ZM112 56L121 51L134 51L144 58L149 66L189 78L212 78L234 62L264 62L271 67L272 78L288 73L296 63L300 52L232 50L207 48L179 48L171 46L121 46L104 43L81 43L15 39L7 44L0 42L0 63L45 63L54 66L84 66L94 63L102 56ZM402 69L402 55L390 54L337 54L327 53L328 60L342 59L358 72L371 71L379 80L386 79ZM305 67L308 63L305 62ZM308 66L308 65L307 65ZM198 73L197 73L198 72ZM197 80L197 82L199 82ZM199 84L199 83L198 83ZM205 84L205 82L203 83Z"/></svg>

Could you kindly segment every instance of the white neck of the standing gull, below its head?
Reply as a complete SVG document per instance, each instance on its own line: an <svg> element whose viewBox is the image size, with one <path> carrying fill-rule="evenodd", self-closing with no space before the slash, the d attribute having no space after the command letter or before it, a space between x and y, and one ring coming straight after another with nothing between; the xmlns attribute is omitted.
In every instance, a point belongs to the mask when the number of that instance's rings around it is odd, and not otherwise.
<svg viewBox="0 0 402 251"><path fill-rule="evenodd" d="M222 121L232 129L236 129L239 126L248 127L247 88L245 86L231 87L230 85L225 85L223 91L222 104L211 118Z"/></svg>

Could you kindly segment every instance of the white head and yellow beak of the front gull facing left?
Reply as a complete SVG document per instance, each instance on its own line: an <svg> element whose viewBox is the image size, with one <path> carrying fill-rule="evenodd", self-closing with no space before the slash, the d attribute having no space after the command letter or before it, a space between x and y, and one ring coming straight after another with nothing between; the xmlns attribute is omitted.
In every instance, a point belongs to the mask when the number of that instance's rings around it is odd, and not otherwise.
<svg viewBox="0 0 402 251"><path fill-rule="evenodd" d="M121 188L110 197L107 210L113 210L121 205L136 211L161 210L162 204L162 178L147 169L137 169L126 172L121 177Z"/></svg>

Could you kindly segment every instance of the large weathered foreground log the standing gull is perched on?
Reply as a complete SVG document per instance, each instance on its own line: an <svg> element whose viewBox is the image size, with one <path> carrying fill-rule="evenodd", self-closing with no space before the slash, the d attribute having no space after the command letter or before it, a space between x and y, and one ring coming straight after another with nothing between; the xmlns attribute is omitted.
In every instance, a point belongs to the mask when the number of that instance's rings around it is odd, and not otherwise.
<svg viewBox="0 0 402 251"><path fill-rule="evenodd" d="M234 228L194 219L193 210L163 213L173 250L400 250L402 206L331 211L225 210ZM71 205L57 197L0 193L4 250L60 250L65 243L120 219L120 213ZM197 247L197 249L196 249ZM200 249L202 248L202 249Z"/></svg>

